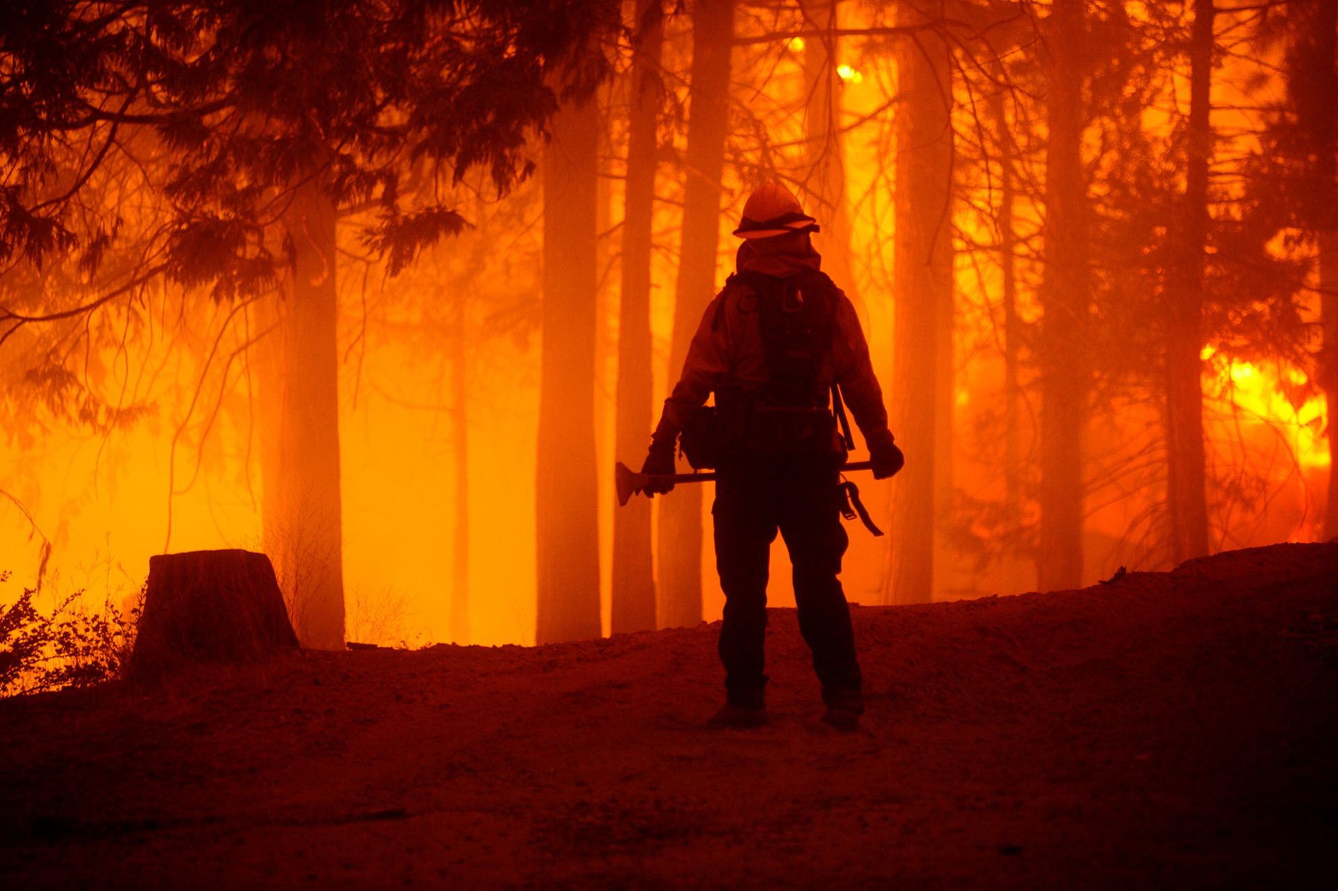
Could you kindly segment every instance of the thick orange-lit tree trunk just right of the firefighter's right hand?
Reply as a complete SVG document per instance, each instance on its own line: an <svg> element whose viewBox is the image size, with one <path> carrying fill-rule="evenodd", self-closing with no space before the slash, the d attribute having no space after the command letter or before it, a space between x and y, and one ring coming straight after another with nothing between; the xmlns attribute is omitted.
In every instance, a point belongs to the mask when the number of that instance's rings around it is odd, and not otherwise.
<svg viewBox="0 0 1338 891"><path fill-rule="evenodd" d="M904 20L904 19L903 19ZM909 21L911 23L911 21ZM943 401L951 407L953 130L947 44L931 33L898 50L896 249L891 427L906 452L892 486L884 603L934 598L943 490Z"/></svg>

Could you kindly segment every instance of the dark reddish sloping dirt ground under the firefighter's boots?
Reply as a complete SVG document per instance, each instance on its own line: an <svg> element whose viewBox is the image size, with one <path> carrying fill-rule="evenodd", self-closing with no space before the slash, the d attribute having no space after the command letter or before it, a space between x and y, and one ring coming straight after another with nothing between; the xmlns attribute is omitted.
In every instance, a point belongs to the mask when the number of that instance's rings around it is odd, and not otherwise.
<svg viewBox="0 0 1338 891"><path fill-rule="evenodd" d="M0 887L1338 887L1338 543L854 615L854 734L792 610L757 730L708 625L4 701Z"/></svg>

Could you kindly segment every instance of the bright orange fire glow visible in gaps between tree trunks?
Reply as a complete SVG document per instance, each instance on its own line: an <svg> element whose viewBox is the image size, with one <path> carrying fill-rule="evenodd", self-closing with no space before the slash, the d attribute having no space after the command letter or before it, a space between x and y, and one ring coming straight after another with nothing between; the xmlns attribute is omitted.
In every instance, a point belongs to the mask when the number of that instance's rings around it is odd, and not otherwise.
<svg viewBox="0 0 1338 891"><path fill-rule="evenodd" d="M831 272L856 305L884 392L890 396L894 387L904 387L917 393L922 381L891 380L894 292L899 286L894 268L898 237L895 167L903 148L896 144L898 115L904 111L898 99L902 72L895 52L887 48L886 35L876 39L848 36L860 27L886 31L890 21L882 16L880 4L840 4L840 15L842 36L834 39L832 45L818 39L783 36L799 29L816 33L807 29L811 23L805 24L797 13L779 23L739 16L739 27L752 31L736 35L740 40L733 51L736 92L731 122L737 127L731 135L720 183L714 284L719 286L733 272L737 242L731 231L749 190L764 178L784 181L820 218L823 229L814 237L814 245L823 254L823 269ZM665 115L656 143L662 162L656 174L649 314L657 412L678 373L669 367L669 353L689 177L684 163L688 142L684 120L692 119L686 83L690 19L688 13L676 15L665 23L664 66L674 75L664 79L666 90L672 91L665 107L686 110L686 114ZM1022 50L1008 51L987 63L1012 64L1022 55ZM622 56L615 60L622 67L619 72L630 70L630 47L624 47ZM823 98L823 102L832 106L804 104L816 102L812 88L815 59L826 66L826 76L820 80L835 99ZM1226 71L1214 87L1214 99L1219 100L1215 102L1214 123L1223 134L1223 158L1243 155L1258 142L1252 135L1238 135L1252 132L1258 123L1250 112L1240 111L1250 103L1239 102L1243 88L1232 86L1243 64L1240 60L1223 62ZM1028 536L1037 519L1040 363L1029 351L1042 320L1044 262L1038 250L1045 209L1037 193L1044 182L1044 150L1038 148L1041 135L1034 130L1044 131L1044 108L1038 104L1013 110L1008 119L1017 131L1010 132L1010 138L1033 140L1033 144L1017 146L1021 161L1012 181L1017 195L1010 214L1018 238L1013 254L1016 293L1012 310L1022 333L1021 346L1014 344L1016 379L1008 380L1001 167L998 146L987 135L994 126L987 120L989 103L1001 92L995 82L999 75L990 68L970 88L961 83L962 76L978 75L978 68L966 66L953 74L957 80L955 94L949 96L954 115L950 135L957 155L951 177L945 179L953 179L958 191L934 221L935 231L949 239L955 252L951 261L954 304L947 313L951 332L945 337L951 356L943 368L923 369L926 381L941 376L937 388L925 388L934 393L946 416L939 421L945 437L939 439L934 458L943 474L935 503L942 502L945 527L955 523L950 530L953 535L941 536L943 542L935 558L934 594L941 599L1017 593L1036 583L1033 558L1025 549L1030 546ZM1141 126L1149 140L1164 139L1169 144L1172 130L1183 118L1180 106L1188 98L1184 74L1168 72L1167 86L1153 96L1156 102L1135 114L1136 120L1128 126ZM617 455L614 447L618 272L629 166L628 80L618 79L607 96L601 95L601 100L607 102L607 131L602 134L598 178L590 186L599 202L601 233L597 371L591 381L595 429L578 431L581 436L593 433L599 468L605 630L610 627L614 510L609 471L614 460L636 464L644 458ZM1002 92L1006 102L1014 102L1017 96L1042 95L1044 90L1029 83L1016 95ZM822 114L809 114L815 108ZM1033 132L1022 132L1020 122L1024 119ZM831 128L823 131L827 126ZM1098 134L1089 132L1085 138L1084 153L1089 157L1084 161L1094 165L1096 154L1108 146ZM978 144L981 140L986 144ZM538 158L543 146L537 142L533 150ZM1234 179L1223 178L1222 182L1228 183L1222 186L1224 191L1238 187L1231 185ZM1171 185L1180 186L1179 182ZM459 507L454 470L462 454L468 463L468 494L460 500L470 531L464 582L471 633L460 642L502 645L535 639L539 376L543 349L561 349L562 344L545 345L539 337L543 233L535 221L541 214L541 183L537 179L524 182L498 202L480 199L476 186L470 179L456 195L474 229L427 252L396 278L387 276L383 262L367 258L365 245L359 241L357 226L373 211L357 209L340 221L340 256L334 268L339 285L337 439L347 635L353 641L393 645L454 639L451 603L456 591L452 571L462 557L455 553L454 539ZM827 194L832 189L840 190L835 201ZM126 213L132 215L130 210ZM1148 285L1147 293L1137 297L1148 298L1152 290ZM709 294L690 297L704 304ZM82 383L95 391L100 401L116 404L118 395L128 393L131 401L151 407L134 425L95 431L88 424L51 416L40 400L35 400L39 408L24 417L27 425L12 431L21 436L0 443L0 491L31 511L36 526L33 530L15 504L0 499L0 570L13 570L17 582L31 583L36 578L43 540L50 542L54 555L45 581L52 597L56 591L80 587L96 597L104 593L130 597L145 578L149 557L165 547L264 547L265 482L260 433L264 412L258 404L256 357L246 349L262 322L252 312L229 318L231 305L215 304L195 293L183 298L175 286L170 293L163 289L136 300L134 310L120 302L92 317L90 329L104 329L92 348L80 340L86 336L80 333L82 321L59 330L52 326L40 337L33 333L32 340L25 338L29 333L25 330L3 348L15 351L12 367L16 369L39 364L44 351L59 353L71 368L79 367L76 376L86 376ZM459 356L447 346L452 336L447 309L456 305L455 301L464 305ZM122 329L130 332L124 345L107 333ZM136 333L142 336L136 338ZM215 344L217 356L234 356L226 368L207 359ZM68 359L76 353L78 360ZM1318 534L1314 492L1322 488L1331 471L1325 399L1301 368L1259 359L1255 353L1250 353L1251 361L1231 359L1227 353L1226 345L1210 344L1200 351L1207 463L1210 470L1220 471L1219 476L1226 475L1223 468L1248 474L1263 480L1259 484L1271 495L1283 496L1271 502L1259 498L1248 510L1228 512L1222 508L1214 514L1212 522L1222 526L1214 530L1214 546L1267 543L1284 536L1313 538ZM450 381L456 361L463 363L467 380L468 420L463 439L452 421L456 397ZM1153 360L1147 363L1147 367L1153 365ZM1152 539L1160 534L1153 527L1161 515L1149 506L1165 499L1165 468L1163 464L1147 470L1155 464L1148 456L1159 455L1165 441L1160 415L1164 392L1159 387L1161 383L1148 373L1133 385L1137 391L1133 396L1109 397L1109 404L1101 404L1092 417L1084 419L1088 425L1084 435L1093 452L1086 475L1090 482L1085 518L1090 540L1084 544L1089 558L1084 570L1089 575L1086 581L1109 575L1123 559L1119 555L1125 551L1120 549L1129 547L1131 539ZM1017 404L1008 405L1010 392L1021 393ZM1014 412L1012 425L1004 419L1006 409ZM863 443L862 436L856 439ZM949 444L943 444L945 439ZM855 459L864 458L863 450L859 451ZM1020 467L1005 468L1010 456ZM1133 476L1129 468L1145 472ZM1008 478L1010 472L1016 474L1012 479ZM886 527L894 484L864 479L859 484L864 487L864 500L875 520ZM1211 510L1220 507L1214 502L1216 495L1210 492ZM1022 499L1017 516L998 520L1008 512L1002 510L1005 499L1014 496ZM965 520L954 514L962 510L963 502L978 508ZM1264 530L1262 514L1279 511L1276 504L1284 504L1293 514ZM708 532L701 578L702 617L712 621L721 614L723 594L714 573L709 511L708 488L702 506ZM1148 520L1148 516L1157 519ZM1258 528L1251 526L1255 522ZM1021 528L1005 528L1006 523ZM1005 547L1001 542L1009 535L1010 543ZM843 573L851 601L878 602L890 559L888 540L894 539L895 532L887 539L872 539L851 527ZM962 550L954 550L958 547ZM1148 561L1165 559L1151 546L1137 551L1139 558L1149 554ZM772 558L771 602L792 605L784 549L775 547ZM1101 561L1115 565L1105 566ZM1135 558L1128 562L1133 569Z"/></svg>

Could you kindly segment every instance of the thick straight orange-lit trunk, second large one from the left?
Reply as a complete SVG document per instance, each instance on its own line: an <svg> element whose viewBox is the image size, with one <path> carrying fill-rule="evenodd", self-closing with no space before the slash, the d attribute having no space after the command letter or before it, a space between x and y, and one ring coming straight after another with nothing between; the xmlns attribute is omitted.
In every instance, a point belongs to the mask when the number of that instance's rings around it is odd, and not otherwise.
<svg viewBox="0 0 1338 891"><path fill-rule="evenodd" d="M598 106L565 106L543 155L537 468L539 644L599 637L594 444Z"/></svg>

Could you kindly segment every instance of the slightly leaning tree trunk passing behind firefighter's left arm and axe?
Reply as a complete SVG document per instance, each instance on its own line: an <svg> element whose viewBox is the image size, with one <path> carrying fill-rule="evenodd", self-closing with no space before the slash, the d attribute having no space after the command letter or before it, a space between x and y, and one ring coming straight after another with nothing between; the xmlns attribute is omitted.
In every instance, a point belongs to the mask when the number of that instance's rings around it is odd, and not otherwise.
<svg viewBox="0 0 1338 891"><path fill-rule="evenodd" d="M697 0L688 94L682 246L674 292L669 371L677 379L697 322L716 292L720 193L729 130L733 0ZM701 621L701 487L681 486L660 502L660 625Z"/></svg>

